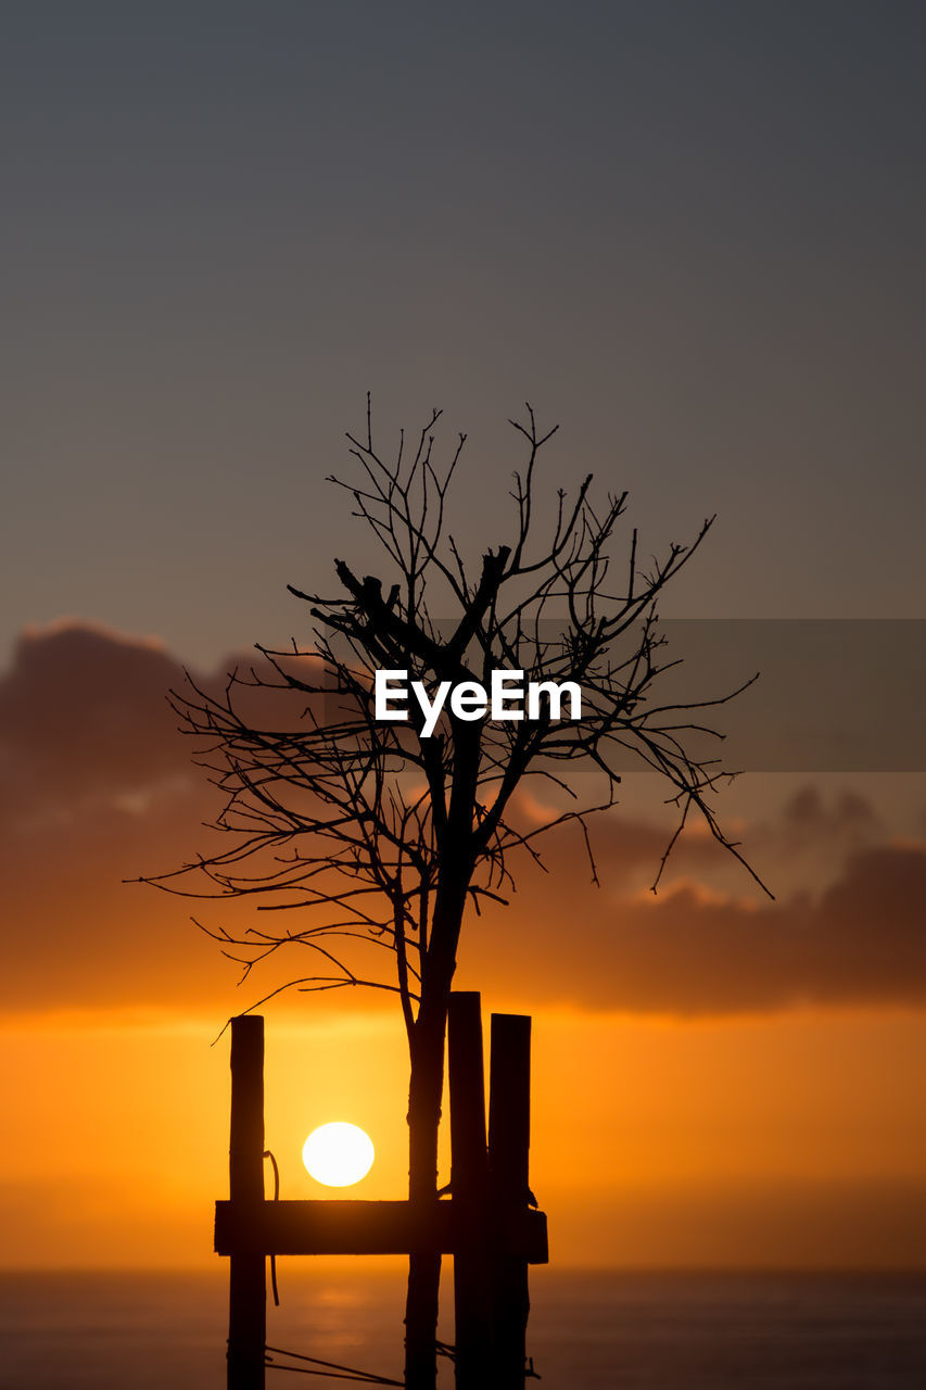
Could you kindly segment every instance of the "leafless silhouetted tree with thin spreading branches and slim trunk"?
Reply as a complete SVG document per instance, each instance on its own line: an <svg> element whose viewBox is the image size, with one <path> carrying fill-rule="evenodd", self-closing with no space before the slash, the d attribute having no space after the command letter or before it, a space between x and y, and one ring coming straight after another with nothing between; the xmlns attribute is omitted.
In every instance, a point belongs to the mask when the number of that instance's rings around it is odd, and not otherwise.
<svg viewBox="0 0 926 1390"><path fill-rule="evenodd" d="M367 400L366 438L348 435L360 471L353 482L330 480L346 488L381 543L385 582L336 560L338 596L292 589L317 623L310 652L295 642L291 651L259 648L263 664L235 671L222 695L193 685L175 696L185 733L207 742L199 760L225 794L217 828L229 847L154 880L196 895L257 895L261 908L285 912L282 927L213 933L245 972L282 948L302 949L318 965L291 981L300 990L363 983L398 994L410 1052L413 1202L432 1202L438 1191L444 1038L460 929L467 905L478 912L481 901L507 899L512 856L541 863L539 837L574 821L596 881L587 817L615 803L617 763L630 749L666 778L679 808L658 876L692 809L740 858L710 805L727 774L685 748L702 727L699 708L723 701L665 705L655 691L673 664L662 660L655 605L710 521L690 546L672 545L648 569L633 531L617 571L610 549L626 493L598 509L590 475L571 498L560 489L546 523L538 520L537 461L555 431L541 434L528 406L524 421L512 421L526 459L513 475L510 538L487 549L474 573L446 528L466 436L438 467L439 414L412 448L402 435L387 459L374 445ZM406 720L377 720L373 687L382 670L406 671L428 699L446 694L446 682L488 687L494 670L551 689L534 717L523 710L474 719L445 706L428 734L413 699ZM552 687L567 681L581 689L577 721L556 717ZM299 696L298 716L254 717L242 708L253 701L249 688L261 699ZM569 780L578 766L596 774L583 785L598 794L585 799ZM528 777L556 787L563 805L539 827L517 812L516 792ZM189 874L200 884L190 887ZM385 974L360 974L349 963L356 938L391 960ZM406 1384L414 1390L435 1382L438 1279L439 1257L412 1257Z"/></svg>

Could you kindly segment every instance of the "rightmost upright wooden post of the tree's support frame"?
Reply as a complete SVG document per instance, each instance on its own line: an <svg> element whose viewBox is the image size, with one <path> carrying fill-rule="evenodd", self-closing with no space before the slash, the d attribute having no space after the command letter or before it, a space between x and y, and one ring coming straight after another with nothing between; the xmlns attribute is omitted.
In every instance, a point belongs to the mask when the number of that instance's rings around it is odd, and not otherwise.
<svg viewBox="0 0 926 1390"><path fill-rule="evenodd" d="M494 1013L489 1061L489 1190L496 1248L492 1261L495 1379L521 1390L527 1359L527 1259L512 1252L510 1233L528 1205L531 1130L531 1020Z"/></svg>

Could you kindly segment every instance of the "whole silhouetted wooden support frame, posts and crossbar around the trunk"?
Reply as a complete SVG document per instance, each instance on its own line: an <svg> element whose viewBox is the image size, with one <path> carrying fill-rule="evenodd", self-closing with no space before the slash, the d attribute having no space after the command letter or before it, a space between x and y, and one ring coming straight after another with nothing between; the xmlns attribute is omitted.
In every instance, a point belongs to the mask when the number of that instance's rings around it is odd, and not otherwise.
<svg viewBox="0 0 926 1390"><path fill-rule="evenodd" d="M492 1015L488 1144L480 997L448 1019L452 1193L407 1201L264 1200L264 1020L231 1020L229 1200L216 1202L216 1251L229 1257L228 1390L264 1390L267 1255L453 1255L459 1390L524 1384L527 1268L546 1264L546 1216L527 1187L530 1023Z"/></svg>

